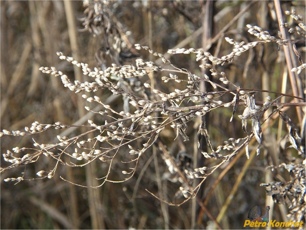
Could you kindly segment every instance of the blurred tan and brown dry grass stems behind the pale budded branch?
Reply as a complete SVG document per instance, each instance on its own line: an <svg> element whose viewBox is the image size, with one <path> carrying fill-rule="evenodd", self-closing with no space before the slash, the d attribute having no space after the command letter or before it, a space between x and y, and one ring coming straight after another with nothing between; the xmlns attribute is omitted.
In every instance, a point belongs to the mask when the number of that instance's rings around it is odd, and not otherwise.
<svg viewBox="0 0 306 230"><path fill-rule="evenodd" d="M70 2L72 8L63 1L0 1L1 6L1 130L22 130L32 122L53 124L61 121L73 124L80 119L78 99L81 95L72 93L64 88L59 78L42 74L40 66L55 66L74 80L73 66L61 61L56 55L62 51L72 56L75 52L70 45L67 12L73 13L75 19L84 17L83 2ZM297 14L305 17L305 1L280 1L282 10L295 8ZM130 42L148 45L151 49L166 53L168 49L203 47L205 33L198 32L203 26L207 9L207 1L116 1L110 2L114 16L122 24L122 29L130 31ZM249 6L250 5L250 6ZM273 1L214 1L213 27L211 37L214 37L245 7L246 12L233 22L222 35L211 44L210 52L217 57L227 55L232 46L226 43L224 37L236 41L255 41L256 38L247 31L246 24L258 25L277 37L279 30ZM287 19L292 22L288 16ZM83 29L82 22L76 20L76 28ZM294 22L292 22L294 23ZM208 39L210 39L208 38ZM103 45L101 36L92 36L88 31L78 32L78 61L89 64L90 68L97 66L96 51ZM297 43L302 57L305 56L305 44ZM141 51L146 61L156 61L156 57ZM171 62L179 68L186 68L192 73L201 75L195 55L173 55ZM305 60L303 60L305 62ZM266 89L292 94L291 86L284 82L288 68L284 64L283 48L276 43L266 43L255 49L244 52L234 62L226 66L216 67L224 71L227 78L236 85L248 89ZM157 66L162 63L157 61ZM297 67L297 66L295 66ZM303 89L305 87L305 71L301 73ZM158 74L156 84L165 88ZM84 78L86 81L86 78ZM173 86L175 87L175 85ZM108 97L110 92L101 96ZM264 100L264 95L258 94L257 100ZM275 97L275 95L270 95ZM231 101L232 98L229 98ZM289 99L288 99L289 100ZM285 101L289 102L289 101ZM122 103L115 100L113 106ZM119 105L118 105L119 106ZM122 106L122 105L120 105ZM244 107L239 107L239 114ZM237 113L238 113L237 112ZM241 120L234 119L229 123L232 111L228 108L218 109L209 115L208 130L211 140L218 146L228 138L244 137ZM287 114L293 123L300 126L296 109L289 108ZM189 125L189 144L193 148L198 126ZM74 132L77 133L78 130ZM294 149L281 147L281 139L287 133L282 121L277 119L263 132L265 147L259 158L253 158L243 180L222 216L220 224L225 229L241 229L247 219L248 211L253 205L260 205L264 210L266 204L273 201L266 196L265 187L260 183L271 181L289 181L286 170L267 170L269 165L278 165L288 157L300 157ZM32 138L39 143L50 143L59 135L58 130L50 130L43 135L1 138L1 153L15 146L31 148ZM179 150L171 140L175 134L163 134L163 140L174 157ZM288 146L288 145L287 145ZM189 147L187 148L189 150ZM187 151L188 152L188 151ZM200 153L199 153L200 154ZM192 156L192 153L190 153ZM204 214L198 216L200 208L192 201L181 206L164 205L149 194L162 193L167 200L173 199L177 184L162 180L162 191L158 189L157 170L162 177L168 172L166 164L159 157L154 162L152 155L142 156L135 175L124 183L105 183L98 189L72 185L59 178L64 176L70 181L83 185L92 185L91 175L105 171L103 165L95 163L91 168L58 167L52 179L37 179L22 181L17 184L5 183L7 177L17 177L21 173L35 176L36 172L53 168L54 162L48 158L39 164L28 165L26 168L13 168L1 175L1 229L190 229L214 228L209 218ZM303 160L303 159L302 159ZM205 159L203 163L210 167L214 159ZM233 185L246 164L246 156L242 154L230 170L222 177L206 201L207 208L216 218L224 205ZM5 165L1 159L1 164ZM120 164L116 174L121 175ZM226 167L226 166L224 166ZM91 172L94 170L96 172ZM199 197L205 199L212 184L218 179L224 168L219 168L202 185ZM270 203L267 203L270 202ZM163 211L162 211L163 209ZM168 213L168 219L164 213ZM277 221L285 221L288 208L286 205L275 204L270 217Z"/></svg>

